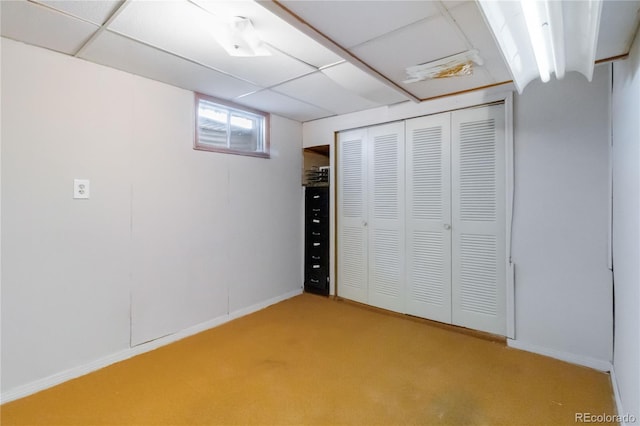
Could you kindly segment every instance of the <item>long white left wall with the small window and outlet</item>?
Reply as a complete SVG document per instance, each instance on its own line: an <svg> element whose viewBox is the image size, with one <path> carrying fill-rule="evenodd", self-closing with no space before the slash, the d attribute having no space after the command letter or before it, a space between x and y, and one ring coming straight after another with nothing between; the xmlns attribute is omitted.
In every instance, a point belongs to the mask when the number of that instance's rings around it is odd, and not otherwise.
<svg viewBox="0 0 640 426"><path fill-rule="evenodd" d="M300 123L269 160L194 151L193 105L2 39L3 398L300 292Z"/></svg>

